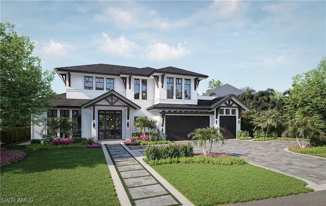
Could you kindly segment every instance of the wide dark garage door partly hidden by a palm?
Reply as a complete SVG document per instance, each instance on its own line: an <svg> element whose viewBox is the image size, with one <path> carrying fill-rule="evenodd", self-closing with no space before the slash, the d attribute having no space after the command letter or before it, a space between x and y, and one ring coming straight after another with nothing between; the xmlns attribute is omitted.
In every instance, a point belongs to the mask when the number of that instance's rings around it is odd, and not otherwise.
<svg viewBox="0 0 326 206"><path fill-rule="evenodd" d="M188 140L188 133L205 127L209 127L209 116L166 116L166 134L171 141Z"/></svg>

